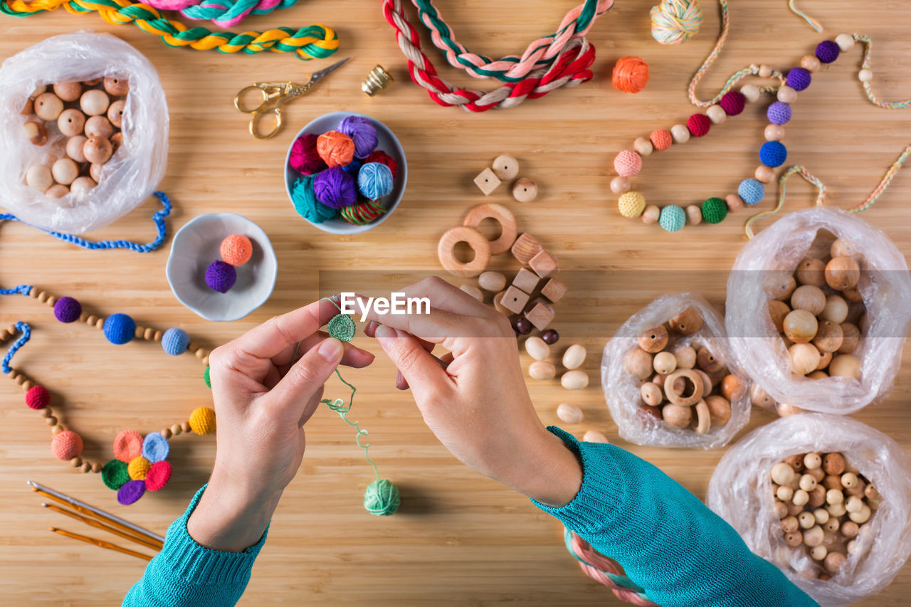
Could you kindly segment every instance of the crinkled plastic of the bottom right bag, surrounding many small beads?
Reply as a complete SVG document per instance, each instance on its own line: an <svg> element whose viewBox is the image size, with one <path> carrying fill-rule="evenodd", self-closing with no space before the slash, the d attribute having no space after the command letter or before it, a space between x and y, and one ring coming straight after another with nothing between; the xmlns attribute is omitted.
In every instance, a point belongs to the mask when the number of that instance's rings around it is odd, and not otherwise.
<svg viewBox="0 0 911 607"><path fill-rule="evenodd" d="M883 496L869 532L831 580L808 579L804 546L788 548L774 510L772 467L797 453L838 451ZM772 561L821 605L847 605L882 591L911 554L911 462L896 441L851 417L819 413L776 419L728 452L709 482L707 503L750 550ZM858 536L861 537L861 536ZM795 571L796 570L796 571Z"/></svg>

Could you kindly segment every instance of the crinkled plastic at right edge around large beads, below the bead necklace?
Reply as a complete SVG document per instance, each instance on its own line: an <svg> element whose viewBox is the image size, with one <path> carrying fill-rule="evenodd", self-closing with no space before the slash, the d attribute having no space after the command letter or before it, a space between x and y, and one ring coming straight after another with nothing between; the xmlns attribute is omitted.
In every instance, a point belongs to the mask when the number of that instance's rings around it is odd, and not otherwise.
<svg viewBox="0 0 911 607"><path fill-rule="evenodd" d="M861 378L807 379L791 373L790 358L772 322L763 280L771 272L793 273L804 257L827 252L835 238L860 249L858 289L869 329L855 356ZM905 258L882 231L837 209L796 211L761 231L743 247L728 278L725 325L737 363L769 396L787 405L823 413L853 413L891 389L908 322L911 278Z"/></svg>

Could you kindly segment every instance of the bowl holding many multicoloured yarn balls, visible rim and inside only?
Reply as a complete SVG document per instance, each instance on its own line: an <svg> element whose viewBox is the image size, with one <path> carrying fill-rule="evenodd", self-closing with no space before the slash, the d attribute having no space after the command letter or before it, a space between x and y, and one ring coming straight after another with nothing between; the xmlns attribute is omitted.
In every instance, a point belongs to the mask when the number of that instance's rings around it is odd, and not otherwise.
<svg viewBox="0 0 911 607"><path fill-rule="evenodd" d="M371 221L366 225L352 225L347 221L341 219L334 219L329 221L323 221L322 223L313 223L310 220L306 220L313 227L319 228L322 231L328 231L333 234L356 234L362 231L368 231L379 224L386 221L386 219L393 214L395 207L398 206L399 201L402 200L404 195L404 186L408 181L408 164L404 159L404 149L402 149L402 144L399 143L399 140L395 137L392 130L389 129L382 122L376 118L371 118L369 116L364 116L363 114L358 114L357 112L331 112L329 114L323 114L320 118L316 118L310 122L306 127L301 129L301 131L294 136L292 139L292 144L288 146L288 153L285 155L285 190L288 192L288 200L291 201L291 190L294 185L294 181L298 180L301 177L301 174L296 170L291 168L291 165L288 163L288 159L291 157L291 149L296 141L302 135L307 133L312 133L313 135L322 135L322 133L327 130L333 130L338 127L339 123L342 122L344 118L349 116L360 116L361 118L367 118L374 123L376 127L377 139L379 143L376 145L376 149L382 149L385 153L389 154L399 165L398 175L395 176L395 185L393 187L392 193L388 196L384 196L380 201L383 203L383 206L388 209L385 214L376 221ZM306 219L306 218L303 218Z"/></svg>

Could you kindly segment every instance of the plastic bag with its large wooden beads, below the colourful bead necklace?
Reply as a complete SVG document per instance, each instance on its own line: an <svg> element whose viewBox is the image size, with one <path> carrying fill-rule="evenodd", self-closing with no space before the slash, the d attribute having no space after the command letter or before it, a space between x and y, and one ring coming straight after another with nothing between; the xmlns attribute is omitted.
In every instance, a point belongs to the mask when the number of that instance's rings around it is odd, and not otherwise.
<svg viewBox="0 0 911 607"><path fill-rule="evenodd" d="M844 273L847 283L837 283L835 270L829 273L836 257L853 266L850 275ZM854 287L842 291L831 286L852 282ZM802 290L805 301L797 303ZM818 322L811 321L817 333L808 345L816 353L783 339L793 336L789 341L796 342L808 335L788 334L787 324L797 308L813 308L813 293L825 302ZM754 389L767 394L761 399L778 404L779 413L799 407L850 414L892 388L911 322L909 302L911 277L895 244L855 215L815 207L786 215L743 247L728 278L725 325L737 365ZM783 314L781 326L773 320L776 309ZM826 318L831 320L824 323ZM826 353L830 348L817 337L824 326L834 329L830 323L839 325L835 331L843 345ZM819 362L809 369L816 355Z"/></svg>

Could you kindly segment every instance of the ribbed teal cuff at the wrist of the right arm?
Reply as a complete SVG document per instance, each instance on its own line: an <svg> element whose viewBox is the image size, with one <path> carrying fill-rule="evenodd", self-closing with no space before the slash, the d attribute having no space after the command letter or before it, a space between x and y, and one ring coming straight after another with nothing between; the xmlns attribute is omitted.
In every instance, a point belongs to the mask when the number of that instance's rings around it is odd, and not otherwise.
<svg viewBox="0 0 911 607"><path fill-rule="evenodd" d="M579 442L567 431L548 426L575 453L582 464L582 487L566 506L553 508L532 499L539 509L560 520L569 530L579 533L603 530L623 513L626 489L619 482L619 468L613 445Z"/></svg>

